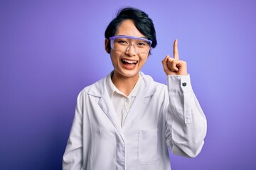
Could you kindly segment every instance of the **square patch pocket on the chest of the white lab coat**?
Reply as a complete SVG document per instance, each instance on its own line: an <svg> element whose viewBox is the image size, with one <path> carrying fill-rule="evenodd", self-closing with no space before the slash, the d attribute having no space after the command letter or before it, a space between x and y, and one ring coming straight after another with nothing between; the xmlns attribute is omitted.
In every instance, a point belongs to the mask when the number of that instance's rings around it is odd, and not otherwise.
<svg viewBox="0 0 256 170"><path fill-rule="evenodd" d="M155 164L159 161L160 130L139 130L139 164Z"/></svg>

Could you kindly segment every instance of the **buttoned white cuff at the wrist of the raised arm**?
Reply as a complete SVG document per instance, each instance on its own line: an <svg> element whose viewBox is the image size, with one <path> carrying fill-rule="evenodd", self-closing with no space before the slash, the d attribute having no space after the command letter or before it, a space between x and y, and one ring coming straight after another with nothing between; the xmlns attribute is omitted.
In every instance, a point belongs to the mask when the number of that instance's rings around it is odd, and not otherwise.
<svg viewBox="0 0 256 170"><path fill-rule="evenodd" d="M167 75L167 86L169 91L182 91L186 93L192 90L190 75L171 76Z"/></svg>

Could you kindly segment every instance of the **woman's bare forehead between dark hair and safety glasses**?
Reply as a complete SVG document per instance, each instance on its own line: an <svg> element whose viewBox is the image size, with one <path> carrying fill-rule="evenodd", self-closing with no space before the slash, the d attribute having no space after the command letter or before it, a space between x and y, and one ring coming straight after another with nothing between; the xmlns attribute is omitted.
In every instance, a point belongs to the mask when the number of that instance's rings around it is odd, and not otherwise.
<svg viewBox="0 0 256 170"><path fill-rule="evenodd" d="M132 20L124 20L117 28L117 31L114 35L129 35L133 37L145 37L134 25Z"/></svg>

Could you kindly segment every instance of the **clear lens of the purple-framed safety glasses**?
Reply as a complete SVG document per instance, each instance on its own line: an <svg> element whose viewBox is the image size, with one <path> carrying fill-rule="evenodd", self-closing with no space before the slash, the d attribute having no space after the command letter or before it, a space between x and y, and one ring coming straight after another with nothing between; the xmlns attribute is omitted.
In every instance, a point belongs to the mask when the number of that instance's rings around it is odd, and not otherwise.
<svg viewBox="0 0 256 170"><path fill-rule="evenodd" d="M133 46L138 55L148 54L150 50L150 42L144 38L115 37L110 39L110 45L113 50L119 52L127 52Z"/></svg>

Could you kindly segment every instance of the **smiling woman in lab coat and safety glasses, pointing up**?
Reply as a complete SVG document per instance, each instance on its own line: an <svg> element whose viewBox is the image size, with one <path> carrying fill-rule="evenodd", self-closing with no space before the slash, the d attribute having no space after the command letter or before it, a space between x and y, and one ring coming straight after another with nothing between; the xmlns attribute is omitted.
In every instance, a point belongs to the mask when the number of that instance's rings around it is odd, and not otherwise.
<svg viewBox="0 0 256 170"><path fill-rule="evenodd" d="M105 31L114 70L79 96L63 169L171 169L173 154L196 157L206 117L193 94L186 62L162 61L167 86L140 72L156 47L154 24L137 8L123 8Z"/></svg>

